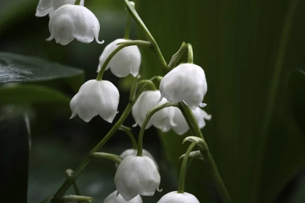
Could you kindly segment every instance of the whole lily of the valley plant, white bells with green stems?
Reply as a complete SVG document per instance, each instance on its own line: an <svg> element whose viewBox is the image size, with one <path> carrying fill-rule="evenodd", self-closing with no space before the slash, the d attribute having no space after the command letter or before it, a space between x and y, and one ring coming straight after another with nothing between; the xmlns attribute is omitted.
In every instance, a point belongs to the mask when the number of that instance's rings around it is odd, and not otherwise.
<svg viewBox="0 0 305 203"><path fill-rule="evenodd" d="M128 75L134 77L130 90L130 102L110 131L89 152L79 167L74 172L67 170L66 181L53 195L51 201L92 202L92 197L83 196L77 192L75 180L89 161L98 157L113 160L116 166L114 167L116 168L114 176L116 190L106 197L104 203L143 202L141 195L153 196L156 191L162 192L160 187L162 177L158 163L148 151L142 149L144 131L153 126L163 132L173 130L177 136L181 136L188 130L193 135L184 141L190 141L191 145L181 156L183 161L178 188L176 191L164 194L158 201L159 203L199 202L193 194L184 191L186 166L190 156L204 160L204 164L208 168L207 172L210 173L221 198L225 203L232 202L200 131L206 125L205 121L211 119L211 115L202 109L206 106L203 99L207 92L207 83L202 67L194 64L192 45L182 43L178 52L167 63L158 44L138 16L135 4L128 0L120 1L126 5L129 12L125 35L121 39L106 42L107 46L97 59L99 61L97 78L85 82L71 99L71 119L78 115L83 121L89 122L93 117L100 116L109 123L113 122L117 116L119 91L114 84L103 79L103 73L108 69L119 78ZM50 18L50 37L47 41L54 39L61 45L67 45L74 39L83 43L93 42L94 39L99 44L104 42L99 41L99 38L102 38L99 36L99 20L85 7L83 0L40 0L36 16L45 15L49 15ZM131 17L134 18L139 28L143 29L147 41L129 39ZM160 66L167 72L165 76L155 76L151 79L140 78L142 57L139 46L153 50L160 60ZM182 63L176 65L185 51L188 51L188 61L181 61ZM145 67L143 68L145 69ZM156 82L160 82L159 89L156 87ZM140 127L138 142L133 137L132 128L123 125L131 113L135 120L133 127ZM120 155L101 152L101 148L117 130L126 131L133 142L133 149L127 149ZM192 152L194 147L197 147L196 152ZM66 191L72 185L75 187L76 194L65 196Z"/></svg>

